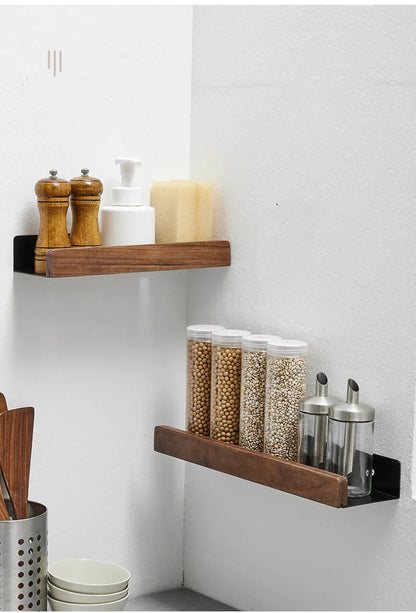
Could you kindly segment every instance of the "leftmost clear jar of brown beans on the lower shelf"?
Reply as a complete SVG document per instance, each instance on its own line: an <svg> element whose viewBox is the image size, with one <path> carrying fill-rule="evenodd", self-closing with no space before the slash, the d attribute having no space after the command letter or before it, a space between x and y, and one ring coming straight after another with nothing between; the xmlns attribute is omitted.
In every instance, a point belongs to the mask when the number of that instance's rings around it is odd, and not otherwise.
<svg viewBox="0 0 416 613"><path fill-rule="evenodd" d="M224 326L188 326L186 422L189 432L209 436L211 405L211 335Z"/></svg>

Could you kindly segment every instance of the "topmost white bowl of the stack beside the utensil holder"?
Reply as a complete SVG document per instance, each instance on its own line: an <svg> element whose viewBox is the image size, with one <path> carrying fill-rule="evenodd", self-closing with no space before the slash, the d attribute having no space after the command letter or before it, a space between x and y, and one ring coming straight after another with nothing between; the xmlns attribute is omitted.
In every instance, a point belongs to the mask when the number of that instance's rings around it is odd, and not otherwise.
<svg viewBox="0 0 416 613"><path fill-rule="evenodd" d="M124 590L130 573L126 568L99 560L61 560L48 568L51 583L83 594L111 594Z"/></svg>

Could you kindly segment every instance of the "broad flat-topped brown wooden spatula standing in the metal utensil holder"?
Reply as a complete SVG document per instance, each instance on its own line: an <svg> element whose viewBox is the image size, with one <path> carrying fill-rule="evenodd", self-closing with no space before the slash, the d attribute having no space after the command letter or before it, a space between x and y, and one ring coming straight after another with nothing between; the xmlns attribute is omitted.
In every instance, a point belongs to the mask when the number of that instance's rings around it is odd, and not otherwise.
<svg viewBox="0 0 416 613"><path fill-rule="evenodd" d="M34 414L33 407L0 414L0 466L16 519L27 517Z"/></svg>

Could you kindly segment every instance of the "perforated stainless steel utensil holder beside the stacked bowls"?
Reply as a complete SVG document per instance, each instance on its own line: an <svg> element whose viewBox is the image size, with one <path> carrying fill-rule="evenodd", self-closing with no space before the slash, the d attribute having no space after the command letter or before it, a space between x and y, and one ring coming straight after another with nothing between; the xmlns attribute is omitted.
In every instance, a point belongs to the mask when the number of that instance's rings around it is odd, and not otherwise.
<svg viewBox="0 0 416 613"><path fill-rule="evenodd" d="M0 521L0 611L46 611L47 513L29 501L27 519Z"/></svg>

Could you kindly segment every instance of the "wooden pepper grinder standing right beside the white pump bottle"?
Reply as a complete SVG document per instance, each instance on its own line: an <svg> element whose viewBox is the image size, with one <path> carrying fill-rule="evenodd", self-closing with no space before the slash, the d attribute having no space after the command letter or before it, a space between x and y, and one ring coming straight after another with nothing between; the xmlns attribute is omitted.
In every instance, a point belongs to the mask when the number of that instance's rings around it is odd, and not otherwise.
<svg viewBox="0 0 416 613"><path fill-rule="evenodd" d="M102 245L98 227L98 209L103 184L99 179L88 175L88 168L81 169L81 177L71 179L72 229L71 245L73 247L93 247Z"/></svg>

